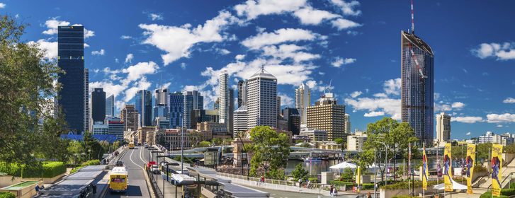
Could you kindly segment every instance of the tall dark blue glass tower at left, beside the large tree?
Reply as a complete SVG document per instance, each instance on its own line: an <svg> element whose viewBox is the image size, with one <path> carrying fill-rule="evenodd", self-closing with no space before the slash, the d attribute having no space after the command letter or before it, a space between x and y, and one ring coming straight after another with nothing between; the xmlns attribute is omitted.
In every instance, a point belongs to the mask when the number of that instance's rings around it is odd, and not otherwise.
<svg viewBox="0 0 515 198"><path fill-rule="evenodd" d="M69 131L81 134L89 124L84 122L84 27L57 28L57 65L62 69L57 82L61 84L57 104L62 107ZM88 118L89 119L89 118Z"/></svg>

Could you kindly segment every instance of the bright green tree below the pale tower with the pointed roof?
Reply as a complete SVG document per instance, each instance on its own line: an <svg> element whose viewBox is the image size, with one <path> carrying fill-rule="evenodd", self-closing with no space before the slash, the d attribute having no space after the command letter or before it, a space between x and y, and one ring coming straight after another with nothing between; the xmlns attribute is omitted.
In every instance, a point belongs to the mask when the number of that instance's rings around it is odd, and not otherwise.
<svg viewBox="0 0 515 198"><path fill-rule="evenodd" d="M290 143L286 134L279 134L271 127L259 126L251 129L250 139L253 141L250 150L254 152L251 175L256 176L258 169L263 168L267 177L268 170L285 167L290 156Z"/></svg>

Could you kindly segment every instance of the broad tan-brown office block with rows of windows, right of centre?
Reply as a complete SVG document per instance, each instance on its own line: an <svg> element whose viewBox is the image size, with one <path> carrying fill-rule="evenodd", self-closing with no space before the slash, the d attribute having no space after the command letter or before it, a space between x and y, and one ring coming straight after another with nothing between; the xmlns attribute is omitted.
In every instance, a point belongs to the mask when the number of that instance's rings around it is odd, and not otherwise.
<svg viewBox="0 0 515 198"><path fill-rule="evenodd" d="M327 132L329 140L344 139L345 105L338 105L332 93L324 93L315 105L307 107L307 127Z"/></svg>

